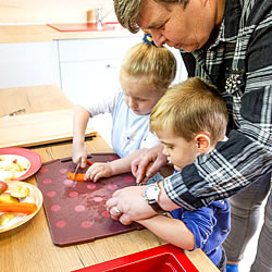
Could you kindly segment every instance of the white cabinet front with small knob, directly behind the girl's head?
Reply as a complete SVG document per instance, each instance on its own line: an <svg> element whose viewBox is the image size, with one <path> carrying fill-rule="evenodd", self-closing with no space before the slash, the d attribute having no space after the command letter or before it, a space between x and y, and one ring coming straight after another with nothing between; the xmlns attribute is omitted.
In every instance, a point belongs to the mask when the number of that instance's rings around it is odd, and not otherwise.
<svg viewBox="0 0 272 272"><path fill-rule="evenodd" d="M73 103L112 91L125 52L140 37L59 40L61 87Z"/></svg>

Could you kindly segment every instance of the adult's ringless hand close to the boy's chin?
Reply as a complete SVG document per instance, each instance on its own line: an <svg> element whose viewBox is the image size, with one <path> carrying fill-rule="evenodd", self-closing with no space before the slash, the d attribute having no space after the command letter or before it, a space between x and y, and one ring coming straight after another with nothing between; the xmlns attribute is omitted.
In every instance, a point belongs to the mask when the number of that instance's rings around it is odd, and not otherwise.
<svg viewBox="0 0 272 272"><path fill-rule="evenodd" d="M158 145L147 149L140 158L132 162L132 173L136 177L136 183L140 183L145 177L150 178L161 166L166 164L166 157L162 153L163 145ZM151 164L151 165L150 165Z"/></svg>

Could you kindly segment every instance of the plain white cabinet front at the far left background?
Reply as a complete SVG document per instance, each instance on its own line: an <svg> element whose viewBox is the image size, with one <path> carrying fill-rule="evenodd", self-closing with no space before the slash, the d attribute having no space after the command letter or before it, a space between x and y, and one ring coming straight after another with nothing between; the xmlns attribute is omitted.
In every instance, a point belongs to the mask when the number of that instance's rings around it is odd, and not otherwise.
<svg viewBox="0 0 272 272"><path fill-rule="evenodd" d="M0 88L60 86L57 41L0 44Z"/></svg>

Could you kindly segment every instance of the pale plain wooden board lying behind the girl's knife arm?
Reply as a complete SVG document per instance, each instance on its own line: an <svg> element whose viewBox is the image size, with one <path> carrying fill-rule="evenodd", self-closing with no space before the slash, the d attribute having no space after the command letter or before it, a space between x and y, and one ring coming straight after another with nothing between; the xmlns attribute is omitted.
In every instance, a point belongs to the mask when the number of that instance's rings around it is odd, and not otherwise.
<svg viewBox="0 0 272 272"><path fill-rule="evenodd" d="M0 148L30 147L73 138L73 109L0 119ZM88 126L86 136L95 136Z"/></svg>

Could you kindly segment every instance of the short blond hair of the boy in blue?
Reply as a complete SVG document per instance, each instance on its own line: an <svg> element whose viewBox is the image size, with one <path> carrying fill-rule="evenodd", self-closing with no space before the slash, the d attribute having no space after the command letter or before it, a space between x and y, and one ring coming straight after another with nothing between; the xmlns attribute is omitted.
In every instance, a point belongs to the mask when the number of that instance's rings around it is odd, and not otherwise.
<svg viewBox="0 0 272 272"><path fill-rule="evenodd" d="M199 132L209 132L211 144L214 144L223 139L227 121L226 104L217 87L199 77L190 77L169 88L154 106L150 129L162 132L170 128L187 141Z"/></svg>

